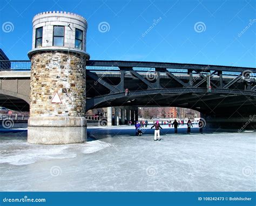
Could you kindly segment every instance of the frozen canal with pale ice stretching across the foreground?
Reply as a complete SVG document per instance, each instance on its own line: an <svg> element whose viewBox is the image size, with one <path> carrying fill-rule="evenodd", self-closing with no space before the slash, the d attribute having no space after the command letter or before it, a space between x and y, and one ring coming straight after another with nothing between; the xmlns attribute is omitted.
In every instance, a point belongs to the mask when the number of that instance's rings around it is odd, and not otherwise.
<svg viewBox="0 0 256 206"><path fill-rule="evenodd" d="M150 128L91 127L88 142L55 146L0 133L0 190L255 191L255 132L164 128L155 142Z"/></svg>

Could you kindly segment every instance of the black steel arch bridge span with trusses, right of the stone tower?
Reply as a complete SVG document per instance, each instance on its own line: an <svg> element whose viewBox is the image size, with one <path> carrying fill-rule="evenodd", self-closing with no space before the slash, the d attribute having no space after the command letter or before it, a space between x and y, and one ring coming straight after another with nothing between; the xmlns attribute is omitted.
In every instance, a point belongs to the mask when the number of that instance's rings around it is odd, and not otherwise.
<svg viewBox="0 0 256 206"><path fill-rule="evenodd" d="M199 103L222 99L226 100L221 106L255 104L255 73L248 67L89 60L86 109L122 104L191 106L203 111Z"/></svg>

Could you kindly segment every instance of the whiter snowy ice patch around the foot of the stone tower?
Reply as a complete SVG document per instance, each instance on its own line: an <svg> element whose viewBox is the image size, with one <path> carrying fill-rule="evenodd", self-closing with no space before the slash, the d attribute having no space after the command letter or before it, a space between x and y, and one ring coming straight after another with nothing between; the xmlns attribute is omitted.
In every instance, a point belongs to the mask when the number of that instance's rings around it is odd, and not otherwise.
<svg viewBox="0 0 256 206"><path fill-rule="evenodd" d="M24 140L6 139L0 141L0 164L22 165L39 160L71 158L79 153L89 154L110 146L100 140L77 145L31 145Z"/></svg>

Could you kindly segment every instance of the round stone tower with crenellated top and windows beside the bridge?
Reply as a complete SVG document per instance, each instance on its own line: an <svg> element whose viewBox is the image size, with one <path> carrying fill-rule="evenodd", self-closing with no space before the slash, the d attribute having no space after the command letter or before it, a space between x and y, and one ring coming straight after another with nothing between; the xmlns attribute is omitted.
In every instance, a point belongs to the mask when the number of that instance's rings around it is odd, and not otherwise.
<svg viewBox="0 0 256 206"><path fill-rule="evenodd" d="M69 12L33 18L28 142L67 144L86 140L87 22Z"/></svg>

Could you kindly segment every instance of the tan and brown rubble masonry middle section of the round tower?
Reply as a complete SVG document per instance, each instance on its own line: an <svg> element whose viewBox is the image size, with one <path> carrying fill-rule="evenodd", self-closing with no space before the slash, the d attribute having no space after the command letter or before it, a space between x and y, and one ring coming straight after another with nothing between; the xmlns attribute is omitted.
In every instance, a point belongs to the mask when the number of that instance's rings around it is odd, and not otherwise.
<svg viewBox="0 0 256 206"><path fill-rule="evenodd" d="M85 57L38 52L31 58L30 116L85 115ZM62 104L51 104L58 92Z"/></svg>

